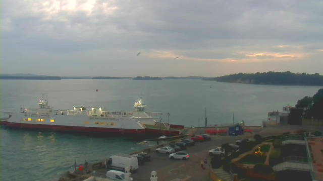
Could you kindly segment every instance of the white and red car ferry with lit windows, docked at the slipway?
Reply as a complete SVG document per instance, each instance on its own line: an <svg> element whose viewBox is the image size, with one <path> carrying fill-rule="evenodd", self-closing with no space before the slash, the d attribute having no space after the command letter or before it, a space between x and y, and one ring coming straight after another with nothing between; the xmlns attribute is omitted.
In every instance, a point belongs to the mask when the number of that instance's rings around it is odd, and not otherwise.
<svg viewBox="0 0 323 181"><path fill-rule="evenodd" d="M164 113L145 112L139 100L133 112L110 111L102 107L74 107L71 110L48 106L48 98L39 99L39 108L21 108L2 125L10 128L92 133L100 136L118 134L180 135L184 126L161 122ZM169 116L169 114L168 114Z"/></svg>

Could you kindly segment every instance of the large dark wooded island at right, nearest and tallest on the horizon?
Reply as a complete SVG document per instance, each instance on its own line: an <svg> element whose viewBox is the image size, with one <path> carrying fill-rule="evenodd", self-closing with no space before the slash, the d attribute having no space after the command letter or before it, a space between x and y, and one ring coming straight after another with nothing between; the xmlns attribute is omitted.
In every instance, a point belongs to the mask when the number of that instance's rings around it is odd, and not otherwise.
<svg viewBox="0 0 323 181"><path fill-rule="evenodd" d="M216 80L219 82L251 83L267 85L323 85L323 76L319 73L292 73L286 72L263 72L263 73L238 73L202 80Z"/></svg>

